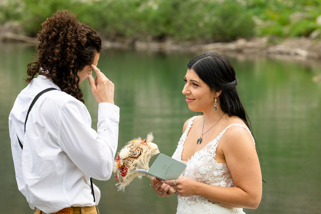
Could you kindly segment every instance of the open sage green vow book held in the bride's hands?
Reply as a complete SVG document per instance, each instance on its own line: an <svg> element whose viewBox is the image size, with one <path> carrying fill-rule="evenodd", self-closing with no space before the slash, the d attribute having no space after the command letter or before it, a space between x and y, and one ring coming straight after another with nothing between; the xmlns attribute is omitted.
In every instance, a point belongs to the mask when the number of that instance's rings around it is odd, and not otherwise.
<svg viewBox="0 0 321 214"><path fill-rule="evenodd" d="M136 169L136 171L168 181L178 179L185 168L186 164L160 153L148 171L145 169Z"/></svg>

